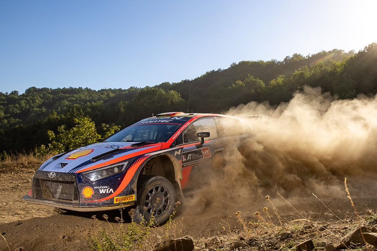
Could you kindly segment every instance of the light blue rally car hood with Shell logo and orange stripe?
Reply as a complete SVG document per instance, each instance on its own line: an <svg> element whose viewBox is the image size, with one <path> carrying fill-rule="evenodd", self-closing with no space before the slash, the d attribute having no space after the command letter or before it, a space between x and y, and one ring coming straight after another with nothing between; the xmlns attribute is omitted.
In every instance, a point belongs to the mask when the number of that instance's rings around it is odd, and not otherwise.
<svg viewBox="0 0 377 251"><path fill-rule="evenodd" d="M135 142L101 142L84 146L63 155L56 155L42 164L39 170L49 172L77 172L81 169L101 164L115 157L132 154L148 148L161 146L153 143L142 146L132 146ZM158 149L157 149L158 150ZM157 151L154 150L154 151ZM144 152L145 153L145 152Z"/></svg>

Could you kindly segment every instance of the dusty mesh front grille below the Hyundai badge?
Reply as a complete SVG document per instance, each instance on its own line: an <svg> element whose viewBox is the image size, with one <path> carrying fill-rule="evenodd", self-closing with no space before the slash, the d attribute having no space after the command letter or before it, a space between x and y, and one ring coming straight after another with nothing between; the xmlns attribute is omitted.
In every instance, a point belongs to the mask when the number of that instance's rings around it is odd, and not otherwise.
<svg viewBox="0 0 377 251"><path fill-rule="evenodd" d="M75 181L33 179L33 197L48 201L78 204L78 191Z"/></svg>

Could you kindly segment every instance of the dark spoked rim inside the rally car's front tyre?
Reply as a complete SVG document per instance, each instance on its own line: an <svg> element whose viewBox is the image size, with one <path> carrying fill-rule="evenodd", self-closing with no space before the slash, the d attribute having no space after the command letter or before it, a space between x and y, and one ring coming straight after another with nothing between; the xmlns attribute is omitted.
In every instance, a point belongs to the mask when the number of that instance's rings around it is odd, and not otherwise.
<svg viewBox="0 0 377 251"><path fill-rule="evenodd" d="M148 215L157 218L164 214L170 203L168 190L161 185L155 185L147 192L144 197L144 209Z"/></svg>

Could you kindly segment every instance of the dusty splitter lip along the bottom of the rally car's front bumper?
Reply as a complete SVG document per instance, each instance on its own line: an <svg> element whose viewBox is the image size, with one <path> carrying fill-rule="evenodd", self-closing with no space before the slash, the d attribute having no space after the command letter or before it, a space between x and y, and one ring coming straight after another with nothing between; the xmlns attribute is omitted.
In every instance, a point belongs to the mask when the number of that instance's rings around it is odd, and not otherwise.
<svg viewBox="0 0 377 251"><path fill-rule="evenodd" d="M48 201L48 200L43 200L43 199L35 199L35 198L30 197L29 195L23 196L23 199L26 202L31 203L31 204L57 207L61 209L78 211L78 212L107 211L107 210L119 209L122 207L131 207L135 204L135 201L132 201L132 202L126 202L126 203L122 203L118 205L103 205L103 206L78 205L78 204L67 204L67 203L61 203L61 202L55 202L55 201Z"/></svg>

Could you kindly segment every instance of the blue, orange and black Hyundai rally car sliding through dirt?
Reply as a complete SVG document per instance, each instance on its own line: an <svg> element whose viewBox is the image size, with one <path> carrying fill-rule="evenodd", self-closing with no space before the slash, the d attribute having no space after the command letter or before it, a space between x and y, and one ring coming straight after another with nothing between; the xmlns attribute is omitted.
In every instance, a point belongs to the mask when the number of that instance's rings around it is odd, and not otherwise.
<svg viewBox="0 0 377 251"><path fill-rule="evenodd" d="M228 140L248 137L242 120L220 114L162 113L100 143L56 155L37 170L27 202L73 211L135 207L134 220L157 224L178 197L224 162ZM203 172L204 170L204 172Z"/></svg>

